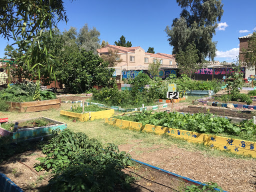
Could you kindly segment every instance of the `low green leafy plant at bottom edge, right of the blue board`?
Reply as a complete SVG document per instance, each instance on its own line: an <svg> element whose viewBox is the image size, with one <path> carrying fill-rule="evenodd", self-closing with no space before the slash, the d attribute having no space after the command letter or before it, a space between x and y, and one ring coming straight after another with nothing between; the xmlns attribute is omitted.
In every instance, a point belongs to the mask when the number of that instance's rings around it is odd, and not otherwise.
<svg viewBox="0 0 256 192"><path fill-rule="evenodd" d="M206 185L188 185L186 186L185 192L215 192L215 188L218 188L220 192L223 192L223 189L218 186L216 182L206 182Z"/></svg>

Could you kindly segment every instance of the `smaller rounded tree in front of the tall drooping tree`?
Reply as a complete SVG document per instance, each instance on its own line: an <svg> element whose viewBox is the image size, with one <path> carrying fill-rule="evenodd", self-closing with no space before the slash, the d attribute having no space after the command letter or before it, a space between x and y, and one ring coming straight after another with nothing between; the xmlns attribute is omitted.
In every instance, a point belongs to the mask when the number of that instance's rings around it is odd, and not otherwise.
<svg viewBox="0 0 256 192"><path fill-rule="evenodd" d="M175 55L176 62L178 63L181 73L185 73L191 77L194 64L199 59L197 52L198 50L196 49L194 42L192 42L188 43L184 52L181 50Z"/></svg>

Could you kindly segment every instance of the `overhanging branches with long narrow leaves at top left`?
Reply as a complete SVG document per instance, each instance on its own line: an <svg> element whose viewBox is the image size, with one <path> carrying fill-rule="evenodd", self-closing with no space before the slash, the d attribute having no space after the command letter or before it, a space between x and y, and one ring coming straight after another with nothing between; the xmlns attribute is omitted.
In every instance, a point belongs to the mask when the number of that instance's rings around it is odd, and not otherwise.
<svg viewBox="0 0 256 192"><path fill-rule="evenodd" d="M0 34L16 41L21 50L28 46L19 62L31 69L36 67L38 76L40 67L44 67L42 61L48 71L53 69L54 57L48 53L42 32L51 31L60 20L67 22L62 0L0 0Z"/></svg>

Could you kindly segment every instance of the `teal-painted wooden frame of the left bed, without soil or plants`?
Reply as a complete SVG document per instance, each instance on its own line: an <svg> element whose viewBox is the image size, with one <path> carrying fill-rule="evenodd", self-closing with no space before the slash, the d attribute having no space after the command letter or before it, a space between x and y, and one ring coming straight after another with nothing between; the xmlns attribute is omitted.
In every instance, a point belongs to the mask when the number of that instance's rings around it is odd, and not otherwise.
<svg viewBox="0 0 256 192"><path fill-rule="evenodd" d="M53 120L47 117L37 117L37 118L27 118L27 119L21 119L21 120L12 120L8 121L7 123L15 123L15 122L25 122L27 120L33 120L38 118L44 118L46 120L52 121L53 125L46 125L46 126L40 126L40 127L32 127L26 130L17 130L16 132L10 132L8 130L5 130L4 128L0 127L0 135L2 136L12 136L13 141L20 141L20 140L26 140L26 139L32 139L32 138L40 138L43 136L48 136L52 132L52 130L59 128L60 130L63 130L66 128L66 123L60 122L57 120Z"/></svg>

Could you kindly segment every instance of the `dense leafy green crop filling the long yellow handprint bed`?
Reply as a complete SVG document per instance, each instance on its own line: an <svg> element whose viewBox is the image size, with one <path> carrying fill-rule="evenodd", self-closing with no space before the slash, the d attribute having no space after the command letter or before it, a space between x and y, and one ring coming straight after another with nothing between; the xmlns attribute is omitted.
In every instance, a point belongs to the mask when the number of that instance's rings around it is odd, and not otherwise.
<svg viewBox="0 0 256 192"><path fill-rule="evenodd" d="M144 111L129 116L117 118L141 122L142 125L153 124L170 128L177 128L209 134L226 134L237 136L241 139L256 139L256 125L252 120L242 121L240 124L232 124L230 119L212 117L212 114L181 114L178 112L155 112Z"/></svg>

